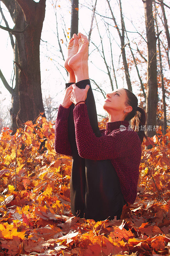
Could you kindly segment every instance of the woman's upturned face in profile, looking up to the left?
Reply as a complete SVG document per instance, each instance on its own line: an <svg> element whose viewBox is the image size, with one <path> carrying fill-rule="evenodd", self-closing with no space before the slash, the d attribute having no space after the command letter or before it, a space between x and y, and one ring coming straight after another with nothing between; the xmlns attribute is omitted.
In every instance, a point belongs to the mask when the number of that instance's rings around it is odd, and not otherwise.
<svg viewBox="0 0 170 256"><path fill-rule="evenodd" d="M106 94L106 99L103 108L108 113L121 112L127 108L124 104L126 101L126 91L123 88L115 89L114 91ZM126 110L125 110L126 111Z"/></svg>

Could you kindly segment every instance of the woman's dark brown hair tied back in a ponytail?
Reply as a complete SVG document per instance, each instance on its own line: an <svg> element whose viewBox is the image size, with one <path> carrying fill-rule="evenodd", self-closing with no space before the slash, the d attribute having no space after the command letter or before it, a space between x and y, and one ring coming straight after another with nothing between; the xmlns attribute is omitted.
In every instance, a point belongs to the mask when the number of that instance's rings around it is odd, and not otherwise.
<svg viewBox="0 0 170 256"><path fill-rule="evenodd" d="M146 140L148 140L148 137L146 136L145 132L143 131L143 126L146 123L146 112L143 108L140 108L137 106L138 100L135 94L128 89L123 88L126 91L126 106L131 106L132 111L128 113L128 115L125 117L125 121L131 120L131 128L137 132L139 139L141 141L141 144L144 140L144 137Z"/></svg>

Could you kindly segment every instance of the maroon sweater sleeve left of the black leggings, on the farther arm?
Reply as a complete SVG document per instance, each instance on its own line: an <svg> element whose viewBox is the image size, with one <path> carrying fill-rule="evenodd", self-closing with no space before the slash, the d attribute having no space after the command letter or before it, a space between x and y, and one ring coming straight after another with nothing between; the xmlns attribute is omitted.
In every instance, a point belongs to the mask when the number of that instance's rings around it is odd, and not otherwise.
<svg viewBox="0 0 170 256"><path fill-rule="evenodd" d="M55 152L62 155L72 156L71 146L68 137L68 116L70 108L64 108L61 104L58 108L55 121Z"/></svg>

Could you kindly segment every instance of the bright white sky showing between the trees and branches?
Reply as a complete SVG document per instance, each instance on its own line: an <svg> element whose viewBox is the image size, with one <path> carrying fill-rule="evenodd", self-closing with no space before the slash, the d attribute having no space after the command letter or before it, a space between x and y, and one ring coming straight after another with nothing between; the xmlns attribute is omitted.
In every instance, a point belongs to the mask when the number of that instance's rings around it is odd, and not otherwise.
<svg viewBox="0 0 170 256"><path fill-rule="evenodd" d="M38 1L36 1L38 2ZM112 3L112 10L114 15L117 19L118 25L120 25L120 12L117 1L110 1ZM168 4L169 1L164 1ZM61 103L63 98L63 92L65 90L65 83L67 80L66 71L64 70L64 61L61 59L61 53L59 52L59 46L57 43L57 36L56 36L56 18L54 12L54 4L57 3L57 21L58 21L58 29L59 29L59 38L60 40L63 39L65 43L65 38L63 34L63 21L61 17L64 17L65 21L65 29L67 32L70 32L70 19L71 19L71 1L70 0L57 0L57 2L47 0L46 1L46 15L45 20L43 23L42 34L41 34L41 45L40 45L40 60L41 60L41 87L42 87L42 95L43 98L48 97L50 95L54 98L54 108L58 107ZM91 15L92 9L91 5L95 3L95 0L79 0L79 31L85 35L88 35L90 30L91 24ZM53 4L53 5L52 5ZM60 7L58 7L60 5ZM8 21L9 27L13 28L14 23L11 19L11 16L1 2L1 7L3 8L4 15L6 20ZM90 9L89 9L90 8ZM98 0L97 1L97 12L101 15L111 17L111 13L108 10L108 5L106 0ZM124 21L125 26L128 31L134 33L128 33L128 37L131 43L131 47L134 49L134 54L136 55L136 45L131 41L137 42L138 47L140 50L144 51L143 54L147 58L146 52L146 43L144 40L137 34L137 30L144 36L145 38L145 23L144 23L144 8L142 0L122 0L122 10L124 13ZM166 16L167 19L169 17L169 9L166 8ZM110 63L110 47L108 42L108 37L106 33L106 29L104 27L104 22L102 21L99 15L96 15L97 24L100 29L100 34L103 37L103 44L104 44L104 51L106 54L106 60L108 65ZM113 20L108 20L111 25L114 26ZM4 21L1 21L1 25L5 26ZM118 82L118 88L124 87L127 88L124 71L118 70L117 68L122 67L122 56L119 61L120 57L120 38L118 33L114 27L109 27L112 33L111 40L113 41L112 51L113 51L113 58L114 58L114 65L116 71L116 78ZM137 29L137 30L136 30ZM70 36L70 35L69 35ZM7 31L0 30L0 49L1 49L1 58L0 58L0 68L7 80L7 82L12 86L11 80L13 78L13 51L11 47L11 42L9 38L9 34ZM14 38L15 39L15 38ZM69 40L69 39L68 39ZM91 36L92 42L99 46L100 45L100 37L97 31L96 22L93 22L93 30ZM139 43L139 41L141 41ZM111 92L111 85L106 74L107 69L104 64L103 59L100 56L100 53L95 50L94 45L90 42L89 44L89 77L93 79L101 88L107 93ZM142 43L142 44L141 44ZM166 42L165 42L166 43ZM64 56L66 56L67 47L62 44ZM101 49L101 47L100 47ZM127 56L129 55L129 49L126 47ZM138 56L139 57L139 56ZM131 57L130 57L131 58ZM59 62L59 63L58 63ZM59 69L59 70L58 70ZM139 72L141 75L144 76L146 73L146 65L139 65ZM168 71L167 71L168 72ZM169 76L169 73L168 73ZM144 76L146 78L146 76ZM140 83L136 74L136 69L133 68L130 71L130 78L132 82L133 92L139 93L140 92ZM114 82L114 89L116 89L115 81ZM145 83L146 80L143 80ZM107 116L106 111L102 108L104 104L104 97L103 95L96 91L97 87L95 84L92 84L93 94L96 101L96 108L97 114L102 116ZM15 83L14 83L15 85ZM0 102L5 100L1 103L1 107L3 106L3 112L7 111L7 107L10 109L11 106L11 96L10 93L4 87L2 81L0 80ZM140 98L138 98L138 104L140 103ZM57 113L57 112L56 112ZM2 115L2 112L1 112ZM98 116L98 120L100 120L100 116Z"/></svg>

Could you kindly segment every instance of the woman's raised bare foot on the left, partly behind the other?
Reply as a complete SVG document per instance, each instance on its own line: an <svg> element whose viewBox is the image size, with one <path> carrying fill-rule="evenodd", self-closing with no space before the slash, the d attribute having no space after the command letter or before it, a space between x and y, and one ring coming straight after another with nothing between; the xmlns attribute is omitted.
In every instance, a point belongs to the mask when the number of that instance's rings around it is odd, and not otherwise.
<svg viewBox="0 0 170 256"><path fill-rule="evenodd" d="M70 39L69 45L68 45L68 52L67 52L67 58L64 62L64 68L67 69L67 71L73 72L72 68L69 67L68 61L72 56L74 56L78 52L78 36L76 34L73 35L73 37Z"/></svg>

